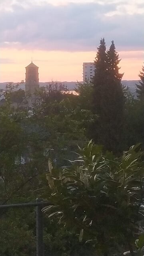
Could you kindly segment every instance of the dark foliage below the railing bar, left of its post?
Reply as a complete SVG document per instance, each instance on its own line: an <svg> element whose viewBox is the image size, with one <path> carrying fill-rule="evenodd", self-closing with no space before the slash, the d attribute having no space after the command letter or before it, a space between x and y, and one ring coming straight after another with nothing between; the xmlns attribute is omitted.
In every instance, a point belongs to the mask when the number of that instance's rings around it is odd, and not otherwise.
<svg viewBox="0 0 144 256"><path fill-rule="evenodd" d="M35 255L36 238L31 228L35 226L34 220L33 209L10 209L3 213L0 218L0 255Z"/></svg>

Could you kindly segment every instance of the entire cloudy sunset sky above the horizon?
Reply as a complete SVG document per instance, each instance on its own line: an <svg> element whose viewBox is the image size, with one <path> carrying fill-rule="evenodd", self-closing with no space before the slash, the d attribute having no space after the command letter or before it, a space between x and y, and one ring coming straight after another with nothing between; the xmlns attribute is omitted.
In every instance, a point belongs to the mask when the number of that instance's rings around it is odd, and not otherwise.
<svg viewBox="0 0 144 256"><path fill-rule="evenodd" d="M100 38L114 40L123 79L144 62L144 0L0 0L0 82L25 79L31 60L40 82L82 81Z"/></svg>

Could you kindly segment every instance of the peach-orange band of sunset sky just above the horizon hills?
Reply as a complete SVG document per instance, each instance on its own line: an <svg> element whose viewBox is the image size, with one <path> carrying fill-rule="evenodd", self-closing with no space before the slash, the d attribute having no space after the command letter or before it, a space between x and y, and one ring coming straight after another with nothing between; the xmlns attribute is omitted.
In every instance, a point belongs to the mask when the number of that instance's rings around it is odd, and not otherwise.
<svg viewBox="0 0 144 256"><path fill-rule="evenodd" d="M119 52L120 72L124 80L138 80L144 54L142 51ZM40 82L51 80L82 81L83 62L92 62L96 52L60 52L42 50L1 49L0 82L25 80L25 66L33 62L39 67Z"/></svg>

